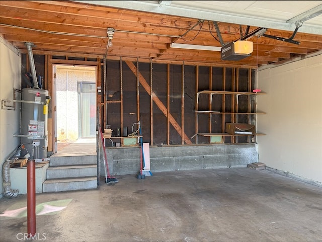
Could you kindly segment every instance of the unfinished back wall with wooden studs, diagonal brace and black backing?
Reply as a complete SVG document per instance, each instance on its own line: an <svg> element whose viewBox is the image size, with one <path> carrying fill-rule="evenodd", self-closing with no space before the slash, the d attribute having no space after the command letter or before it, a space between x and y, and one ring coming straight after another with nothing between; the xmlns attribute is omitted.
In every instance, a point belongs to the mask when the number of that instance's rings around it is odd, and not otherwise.
<svg viewBox="0 0 322 242"><path fill-rule="evenodd" d="M196 118L196 93L202 90L252 92L255 71L252 69L107 61L105 119L112 136L124 136L123 128L132 132L140 121L143 142L151 145L197 143L196 133L224 133L225 123L255 124L256 97L214 94L199 96L198 110L216 110L216 114L199 114ZM152 98L151 98L152 93ZM151 102L153 99L153 102ZM210 105L211 104L211 105ZM104 108L103 108L104 110ZM244 112L244 114L236 114ZM196 125L198 120L198 125ZM134 126L134 131L137 126ZM255 135L254 135L255 136ZM222 143L256 143L247 136L224 136ZM121 142L113 139L114 142ZM209 136L199 136L198 144L209 144ZM112 142L107 142L107 146Z"/></svg>

